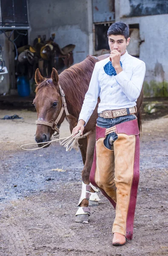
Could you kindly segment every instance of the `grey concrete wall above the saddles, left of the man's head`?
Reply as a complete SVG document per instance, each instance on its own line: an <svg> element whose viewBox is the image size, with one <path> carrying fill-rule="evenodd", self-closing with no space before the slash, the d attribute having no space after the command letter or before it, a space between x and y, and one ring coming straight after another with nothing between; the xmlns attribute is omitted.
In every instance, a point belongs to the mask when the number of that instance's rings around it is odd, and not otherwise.
<svg viewBox="0 0 168 256"><path fill-rule="evenodd" d="M38 35L49 38L55 33L55 42L62 48L75 44L74 63L93 54L91 0L28 0L29 43Z"/></svg>

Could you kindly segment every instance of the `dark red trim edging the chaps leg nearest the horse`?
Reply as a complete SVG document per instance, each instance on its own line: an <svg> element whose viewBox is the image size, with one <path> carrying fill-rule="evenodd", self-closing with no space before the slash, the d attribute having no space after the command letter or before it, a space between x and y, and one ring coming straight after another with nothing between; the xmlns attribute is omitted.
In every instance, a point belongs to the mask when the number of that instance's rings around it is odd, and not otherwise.
<svg viewBox="0 0 168 256"><path fill-rule="evenodd" d="M106 194L106 192L96 184L96 182L95 182L95 172L96 172L96 145L95 145L95 151L94 151L94 157L93 157L93 164L92 164L92 168L91 168L91 171L90 171L90 183L92 183L93 186L96 186L97 188L99 188L101 193L110 201L110 203L113 205L114 209L116 209L116 202L113 201L113 199L110 198L110 196L108 196Z"/></svg>

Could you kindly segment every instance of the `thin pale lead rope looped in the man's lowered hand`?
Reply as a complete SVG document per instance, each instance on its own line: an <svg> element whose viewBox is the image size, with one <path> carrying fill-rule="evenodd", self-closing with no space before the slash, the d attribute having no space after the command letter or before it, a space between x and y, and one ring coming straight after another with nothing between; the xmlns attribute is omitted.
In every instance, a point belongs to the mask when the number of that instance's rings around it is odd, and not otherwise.
<svg viewBox="0 0 168 256"><path fill-rule="evenodd" d="M24 144L24 145L21 145L20 148L23 149L23 150L32 151L32 150L37 150L37 149L44 148L45 146L49 145L52 142L55 142L55 141L58 141L58 140L62 140L60 145L64 145L64 148L66 148L66 151L71 151L71 149L73 148L73 145L75 143L75 139L77 137L80 137L81 131L79 130L75 134L76 135L71 134L68 137L64 137L64 138L61 138L61 139L55 139L55 140L51 140L51 141L46 141L46 142ZM40 145L40 144L46 144L46 145L43 145L40 148L31 148L31 149L24 148L25 146L29 146L29 145Z"/></svg>

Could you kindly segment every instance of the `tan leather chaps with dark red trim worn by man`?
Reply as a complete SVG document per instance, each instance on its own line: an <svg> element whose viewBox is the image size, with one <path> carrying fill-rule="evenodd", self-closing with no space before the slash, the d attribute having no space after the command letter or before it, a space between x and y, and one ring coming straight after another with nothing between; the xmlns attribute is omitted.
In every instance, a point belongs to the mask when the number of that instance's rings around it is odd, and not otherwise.
<svg viewBox="0 0 168 256"><path fill-rule="evenodd" d="M90 182L116 209L113 233L133 237L133 220L139 183L139 128L137 119L115 125L114 150L105 147L106 128L96 126L96 145Z"/></svg>

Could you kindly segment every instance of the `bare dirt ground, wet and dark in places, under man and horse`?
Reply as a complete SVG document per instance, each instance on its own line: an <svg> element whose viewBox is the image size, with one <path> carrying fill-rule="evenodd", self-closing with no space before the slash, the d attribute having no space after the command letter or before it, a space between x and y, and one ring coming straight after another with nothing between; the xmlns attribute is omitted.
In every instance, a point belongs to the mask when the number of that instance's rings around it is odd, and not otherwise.
<svg viewBox="0 0 168 256"><path fill-rule="evenodd" d="M144 121L134 236L112 246L115 211L99 192L89 224L75 223L81 193L80 152L33 143L36 113L0 110L0 256L168 256L168 116ZM67 122L61 137L69 135Z"/></svg>

